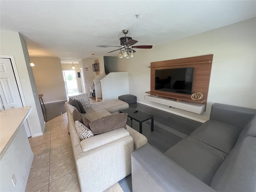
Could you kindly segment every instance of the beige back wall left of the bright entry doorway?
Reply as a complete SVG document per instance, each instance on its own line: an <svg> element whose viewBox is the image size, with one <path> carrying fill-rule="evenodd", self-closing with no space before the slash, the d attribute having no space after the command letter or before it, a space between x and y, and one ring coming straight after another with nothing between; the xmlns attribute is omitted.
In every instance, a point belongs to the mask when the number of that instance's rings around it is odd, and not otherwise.
<svg viewBox="0 0 256 192"><path fill-rule="evenodd" d="M30 60L35 64L32 70L38 94L44 94L44 103L67 100L60 59L32 57Z"/></svg>

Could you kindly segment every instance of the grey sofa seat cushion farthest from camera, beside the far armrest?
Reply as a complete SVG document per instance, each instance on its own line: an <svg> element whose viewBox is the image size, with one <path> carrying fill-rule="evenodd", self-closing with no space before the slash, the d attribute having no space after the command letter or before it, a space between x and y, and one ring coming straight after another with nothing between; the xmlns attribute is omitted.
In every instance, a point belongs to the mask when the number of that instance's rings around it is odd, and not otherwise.
<svg viewBox="0 0 256 192"><path fill-rule="evenodd" d="M240 132L240 127L208 120L194 130L190 136L228 154L236 144Z"/></svg>

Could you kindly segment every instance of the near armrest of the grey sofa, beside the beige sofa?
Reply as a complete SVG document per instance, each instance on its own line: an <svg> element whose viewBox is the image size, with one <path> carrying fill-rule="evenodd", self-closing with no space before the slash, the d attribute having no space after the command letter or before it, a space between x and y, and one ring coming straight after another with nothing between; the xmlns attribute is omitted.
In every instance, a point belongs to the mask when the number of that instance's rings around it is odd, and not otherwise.
<svg viewBox="0 0 256 192"><path fill-rule="evenodd" d="M132 191L215 192L150 144L132 152Z"/></svg>

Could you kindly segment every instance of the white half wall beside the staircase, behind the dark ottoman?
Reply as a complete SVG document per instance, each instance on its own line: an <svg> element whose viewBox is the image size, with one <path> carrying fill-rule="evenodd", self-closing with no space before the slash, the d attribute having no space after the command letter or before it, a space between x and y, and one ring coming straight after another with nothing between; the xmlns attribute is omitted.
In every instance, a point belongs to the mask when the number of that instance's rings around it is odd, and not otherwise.
<svg viewBox="0 0 256 192"><path fill-rule="evenodd" d="M101 80L102 100L118 99L129 94L128 72L109 73Z"/></svg>

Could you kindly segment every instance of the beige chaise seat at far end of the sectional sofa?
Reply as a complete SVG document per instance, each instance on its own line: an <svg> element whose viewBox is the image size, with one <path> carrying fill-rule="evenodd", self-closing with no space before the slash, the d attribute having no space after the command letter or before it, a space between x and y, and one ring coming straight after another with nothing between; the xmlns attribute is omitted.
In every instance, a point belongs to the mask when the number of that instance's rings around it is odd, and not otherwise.
<svg viewBox="0 0 256 192"><path fill-rule="evenodd" d="M114 113L127 108L129 108L128 103L118 99L113 99L92 104L91 108L86 109L86 113L91 113L99 110L107 110L110 113Z"/></svg>

